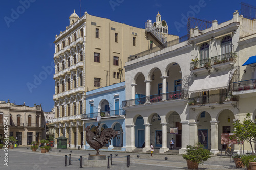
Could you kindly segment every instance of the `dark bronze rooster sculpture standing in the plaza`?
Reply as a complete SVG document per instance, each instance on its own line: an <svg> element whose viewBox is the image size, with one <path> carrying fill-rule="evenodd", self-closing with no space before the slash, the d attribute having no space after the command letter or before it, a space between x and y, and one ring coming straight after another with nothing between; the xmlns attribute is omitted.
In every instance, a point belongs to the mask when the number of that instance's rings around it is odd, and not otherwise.
<svg viewBox="0 0 256 170"><path fill-rule="evenodd" d="M111 138L116 137L116 133L112 128L106 128L100 133L100 137L94 140L95 134L90 130L90 126L86 127L86 142L97 151L96 155L99 155L99 149L104 147L108 142L111 144Z"/></svg>

